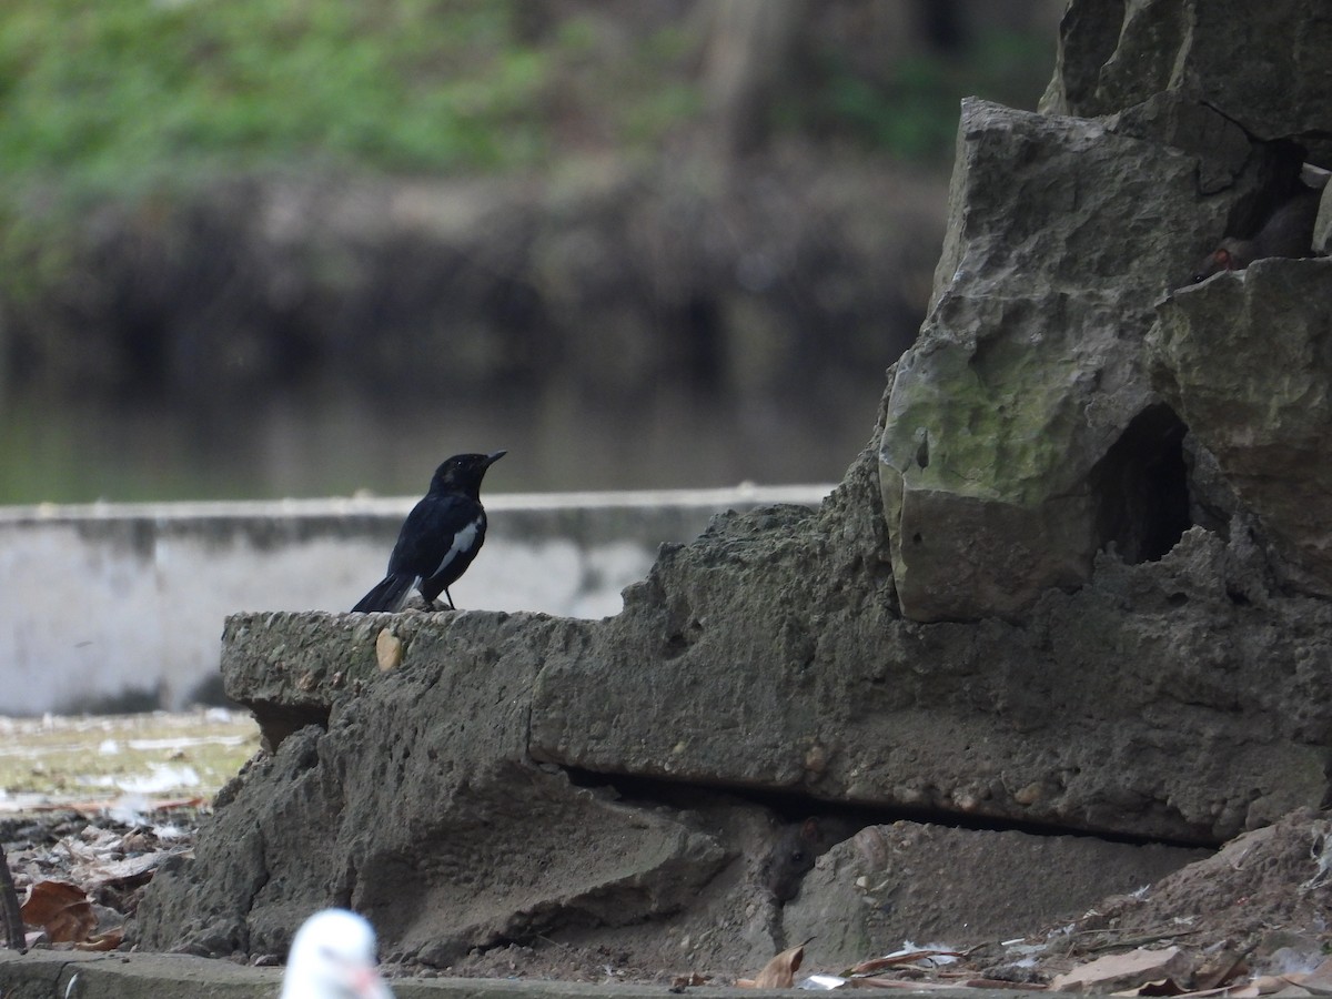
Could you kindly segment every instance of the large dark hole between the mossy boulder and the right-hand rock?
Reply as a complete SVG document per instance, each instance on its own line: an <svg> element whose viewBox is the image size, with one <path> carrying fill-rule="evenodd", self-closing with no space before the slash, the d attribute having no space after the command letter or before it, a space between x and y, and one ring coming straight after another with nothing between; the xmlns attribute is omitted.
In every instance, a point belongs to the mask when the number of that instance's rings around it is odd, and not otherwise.
<svg viewBox="0 0 1332 999"><path fill-rule="evenodd" d="M1130 565L1155 562L1192 526L1185 432L1168 406L1148 406L1092 469L1099 547L1114 545Z"/></svg>

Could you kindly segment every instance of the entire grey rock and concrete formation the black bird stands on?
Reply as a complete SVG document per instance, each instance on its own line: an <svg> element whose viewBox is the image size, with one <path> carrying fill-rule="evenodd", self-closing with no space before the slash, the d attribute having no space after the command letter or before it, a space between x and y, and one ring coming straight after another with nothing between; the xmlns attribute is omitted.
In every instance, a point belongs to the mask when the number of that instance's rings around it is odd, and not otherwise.
<svg viewBox="0 0 1332 999"><path fill-rule="evenodd" d="M967 104L930 320L821 510L719 518L605 621L233 617L226 686L272 755L159 874L140 943L278 951L337 902L433 966L541 936L734 971L802 910L846 908L835 872L859 870L821 868L783 910L829 843L782 819L950 823L919 842L988 835L978 870L1020 848L1103 872L1034 899L1039 919L1317 807L1332 264L1169 297L1289 189L1305 132L1255 132L1148 72L1183 44L1171 24L1227 4L1130 5L1119 53L1108 23L1082 33L1092 7L1070 9L1052 93L1100 93L1151 44L1115 91L1140 103L1096 121ZM1144 8L1163 19L1146 35ZM1172 846L1051 852L978 825ZM859 926L839 956L903 931Z"/></svg>

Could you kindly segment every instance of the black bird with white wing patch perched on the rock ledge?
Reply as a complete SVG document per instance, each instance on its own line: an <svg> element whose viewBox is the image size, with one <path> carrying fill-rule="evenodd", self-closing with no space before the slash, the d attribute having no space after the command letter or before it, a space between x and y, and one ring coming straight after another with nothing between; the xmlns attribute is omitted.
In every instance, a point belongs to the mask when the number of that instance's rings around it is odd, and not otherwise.
<svg viewBox="0 0 1332 999"><path fill-rule="evenodd" d="M430 492L402 522L389 555L389 574L352 607L353 614L401 610L413 586L426 603L442 590L449 607L456 609L449 587L468 571L486 539L481 480L505 453L454 454L436 469Z"/></svg>

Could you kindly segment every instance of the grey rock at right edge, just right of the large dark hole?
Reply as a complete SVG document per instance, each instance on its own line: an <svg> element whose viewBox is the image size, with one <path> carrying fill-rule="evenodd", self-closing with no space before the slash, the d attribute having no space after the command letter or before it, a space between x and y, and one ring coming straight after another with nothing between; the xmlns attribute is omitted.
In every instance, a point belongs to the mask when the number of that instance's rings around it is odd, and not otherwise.
<svg viewBox="0 0 1332 999"><path fill-rule="evenodd" d="M1332 261L1265 260L1179 292L1148 340L1171 408L1280 550L1332 595Z"/></svg>

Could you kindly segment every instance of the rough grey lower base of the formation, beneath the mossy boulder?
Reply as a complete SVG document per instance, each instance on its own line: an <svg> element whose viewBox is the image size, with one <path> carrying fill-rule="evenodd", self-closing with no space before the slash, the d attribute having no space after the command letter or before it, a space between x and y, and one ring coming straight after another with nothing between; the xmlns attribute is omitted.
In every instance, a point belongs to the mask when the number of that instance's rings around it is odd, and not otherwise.
<svg viewBox="0 0 1332 999"><path fill-rule="evenodd" d="M875 485L867 453L819 511L722 518L602 622L233 617L228 690L276 753L157 875L140 944L281 952L337 902L433 966L581 927L754 967L783 939L755 795L1215 843L1327 794L1332 611L1261 590L1256 547L1195 527L1024 626L920 625Z"/></svg>

